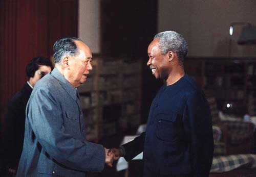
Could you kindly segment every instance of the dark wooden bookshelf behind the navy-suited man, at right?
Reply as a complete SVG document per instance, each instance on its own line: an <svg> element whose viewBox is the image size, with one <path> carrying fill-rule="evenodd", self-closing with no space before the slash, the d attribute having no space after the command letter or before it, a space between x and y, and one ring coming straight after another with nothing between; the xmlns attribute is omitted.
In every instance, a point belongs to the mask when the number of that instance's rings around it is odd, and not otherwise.
<svg viewBox="0 0 256 177"><path fill-rule="evenodd" d="M256 58L187 58L184 69L196 78L206 97L216 98L224 113L248 114L249 94L256 91ZM228 110L226 103L233 103L234 108Z"/></svg>

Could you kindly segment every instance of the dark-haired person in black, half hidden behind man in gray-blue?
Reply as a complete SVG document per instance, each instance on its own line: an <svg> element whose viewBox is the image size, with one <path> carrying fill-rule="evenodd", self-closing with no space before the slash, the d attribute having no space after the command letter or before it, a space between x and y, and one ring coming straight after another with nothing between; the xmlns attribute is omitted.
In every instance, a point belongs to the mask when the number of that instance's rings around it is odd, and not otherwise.
<svg viewBox="0 0 256 177"><path fill-rule="evenodd" d="M7 108L4 132L4 164L6 175L15 175L22 154L26 106L37 81L53 69L48 58L35 57L26 66L27 83L14 94Z"/></svg>

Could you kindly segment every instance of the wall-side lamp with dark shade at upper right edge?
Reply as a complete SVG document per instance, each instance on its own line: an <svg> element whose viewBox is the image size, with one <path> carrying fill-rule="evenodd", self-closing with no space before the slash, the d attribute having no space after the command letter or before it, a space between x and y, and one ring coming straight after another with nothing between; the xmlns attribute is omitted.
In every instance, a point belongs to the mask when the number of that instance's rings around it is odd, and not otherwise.
<svg viewBox="0 0 256 177"><path fill-rule="evenodd" d="M238 44L256 44L256 27L249 22L232 22L229 27L229 43L228 43L228 57L231 53L231 36L233 35L234 26L245 26L240 34Z"/></svg>

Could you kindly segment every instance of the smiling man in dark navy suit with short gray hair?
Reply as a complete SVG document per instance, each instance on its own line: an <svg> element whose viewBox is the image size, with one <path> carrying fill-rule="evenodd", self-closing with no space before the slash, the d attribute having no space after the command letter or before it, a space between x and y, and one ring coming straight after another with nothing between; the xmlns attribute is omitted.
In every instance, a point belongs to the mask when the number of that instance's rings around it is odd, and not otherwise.
<svg viewBox="0 0 256 177"><path fill-rule="evenodd" d="M147 66L165 81L154 98L146 131L119 148L116 159L143 151L146 177L209 175L214 150L211 115L203 91L183 69L187 43L177 32L157 34L148 46Z"/></svg>

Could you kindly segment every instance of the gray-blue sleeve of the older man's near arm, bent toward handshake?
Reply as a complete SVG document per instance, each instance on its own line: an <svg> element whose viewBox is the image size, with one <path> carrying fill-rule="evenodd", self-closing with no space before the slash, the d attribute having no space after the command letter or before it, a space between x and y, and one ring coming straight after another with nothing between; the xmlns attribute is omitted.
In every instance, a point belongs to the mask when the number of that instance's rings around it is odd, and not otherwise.
<svg viewBox="0 0 256 177"><path fill-rule="evenodd" d="M27 117L36 139L50 157L69 168L102 171L104 147L66 133L61 105L53 95L47 90L36 90L29 101Z"/></svg>

